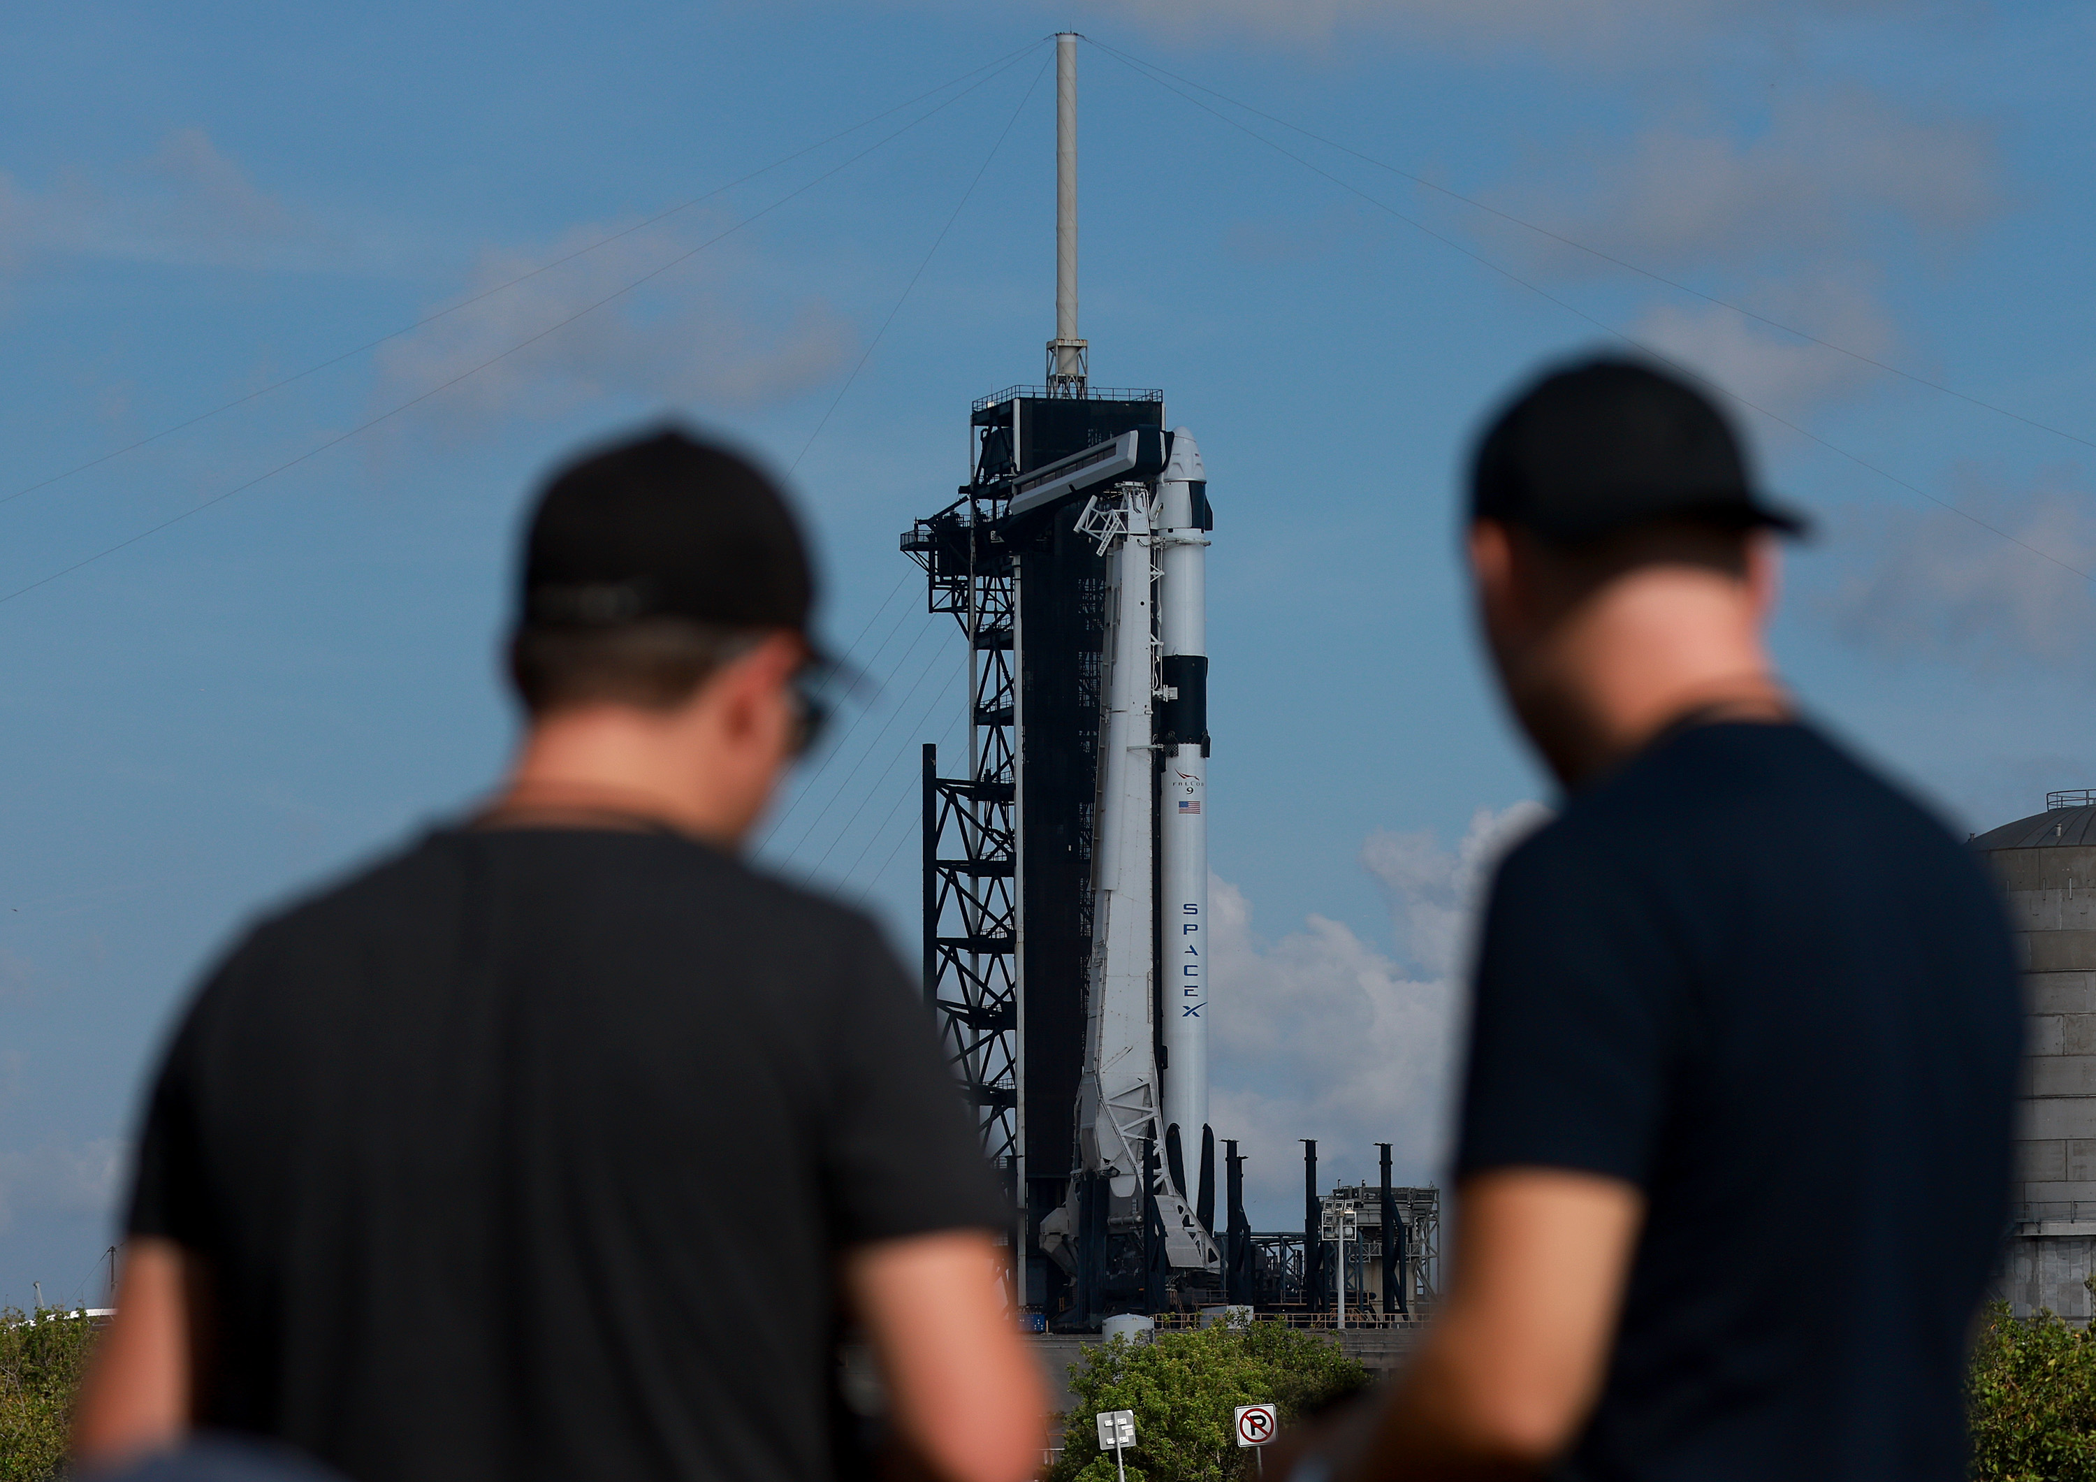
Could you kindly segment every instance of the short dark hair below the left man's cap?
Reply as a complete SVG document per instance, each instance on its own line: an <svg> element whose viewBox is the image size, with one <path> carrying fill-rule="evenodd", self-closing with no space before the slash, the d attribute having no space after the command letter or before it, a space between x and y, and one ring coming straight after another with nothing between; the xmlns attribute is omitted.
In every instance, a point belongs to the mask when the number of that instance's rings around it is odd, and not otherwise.
<svg viewBox="0 0 2096 1482"><path fill-rule="evenodd" d="M763 629L690 618L524 623L509 637L509 683L534 721L585 704L675 711L763 637Z"/></svg>

